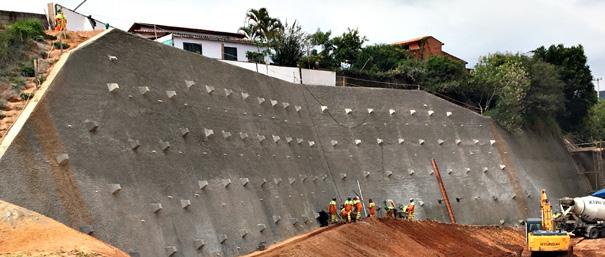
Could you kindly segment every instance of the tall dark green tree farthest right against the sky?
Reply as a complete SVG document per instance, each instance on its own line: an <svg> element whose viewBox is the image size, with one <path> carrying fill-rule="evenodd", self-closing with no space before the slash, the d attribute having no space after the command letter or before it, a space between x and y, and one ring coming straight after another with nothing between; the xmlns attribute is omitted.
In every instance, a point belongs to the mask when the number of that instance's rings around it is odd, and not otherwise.
<svg viewBox="0 0 605 257"><path fill-rule="evenodd" d="M559 126L564 131L582 137L578 132L584 127L590 108L597 103L584 48L582 45L565 47L560 44L548 48L541 46L533 53L534 58L555 65L564 83L565 108L557 115Z"/></svg>

